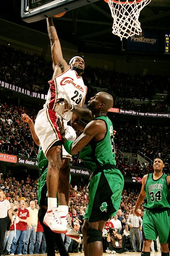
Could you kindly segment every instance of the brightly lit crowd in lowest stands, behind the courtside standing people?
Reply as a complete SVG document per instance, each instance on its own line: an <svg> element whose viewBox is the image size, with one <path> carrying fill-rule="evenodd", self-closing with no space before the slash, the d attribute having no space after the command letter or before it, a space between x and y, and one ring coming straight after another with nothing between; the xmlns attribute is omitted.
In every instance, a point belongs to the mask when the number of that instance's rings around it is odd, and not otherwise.
<svg viewBox="0 0 170 256"><path fill-rule="evenodd" d="M11 171L9 171L6 175L4 176L0 176L0 189L3 190L4 192L4 198L7 199L10 204L11 204L11 211L14 211L14 208L19 207L20 204L23 204L24 202L24 208L28 209L31 206L31 204L33 205L33 208L35 207L37 210L39 210L39 206L38 206L38 199L37 199L37 193L38 193L38 177L36 179L32 179L29 175L26 177L25 180L20 180L18 177L14 177L14 175L12 174ZM133 206L136 203L136 199L139 195L139 191L134 190L134 189L124 189L122 191L122 200L121 200L121 204L120 204L120 209L121 209L121 216L123 219L125 219L125 224L127 222L128 216L130 215L130 213L132 212ZM87 205L88 205L88 188L87 186L82 186L82 185L70 185L70 200L69 200L69 212L71 213L73 222L74 222L74 228L77 229L77 231L81 234L81 238L82 238L82 233L81 233L81 227L84 221L84 215L85 215L85 210L87 209ZM35 204L33 204L35 203ZM30 206L30 207L29 207ZM143 211L143 205L141 205L140 209ZM36 211L37 211L36 210ZM14 212L13 212L14 214ZM28 221L27 221L27 225L28 225ZM122 233L125 227L123 227L122 229ZM106 227L105 229L107 230L107 232L109 232L109 227L106 223ZM26 247L25 243L23 245L23 250L22 252L25 253L27 252L27 250L32 250L34 253L45 253L45 244L44 244L44 238L42 239L41 236L41 240L39 239L39 235L40 233L38 232L43 232L42 227L40 227L40 223L38 223L38 227L37 227L37 238L34 241L34 247L32 248L33 244L31 244L28 248ZM106 236L106 233L103 233L103 236ZM30 239L33 239L32 237L30 237ZM6 237L5 237L5 241L4 241L4 249L6 249ZM40 242L40 241L41 242ZM30 240L31 242L32 240ZM36 243L40 244L37 244ZM20 241L19 241L20 242ZM11 241L11 244L9 246L8 242L7 242L7 249L8 252L11 250L13 250L13 243ZM11 247L11 249L9 248ZM31 249L30 249L31 248ZM38 250L37 250L38 248ZM106 248L105 248L106 249ZM43 250L43 251L42 251ZM56 248L57 250L57 248ZM79 241L79 243L77 244L77 248L75 249L71 249L71 247L68 247L68 250L70 250L70 252L79 252L79 251L83 251L83 240ZM13 251L12 251L13 252ZM14 255L14 254L12 254Z"/></svg>

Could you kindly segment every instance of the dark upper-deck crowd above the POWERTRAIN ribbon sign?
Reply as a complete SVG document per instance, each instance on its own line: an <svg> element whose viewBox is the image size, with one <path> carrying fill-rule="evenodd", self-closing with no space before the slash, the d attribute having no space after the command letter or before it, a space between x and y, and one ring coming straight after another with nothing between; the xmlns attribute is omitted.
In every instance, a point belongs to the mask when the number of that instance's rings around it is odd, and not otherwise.
<svg viewBox="0 0 170 256"><path fill-rule="evenodd" d="M36 54L5 45L0 46L0 52L0 80L27 90L47 93L47 81L51 79L53 72L51 62ZM170 88L167 77L130 76L92 67L85 67L83 80L88 86L88 96L95 93L94 87L99 87L122 98L153 99L156 93L169 93Z"/></svg>

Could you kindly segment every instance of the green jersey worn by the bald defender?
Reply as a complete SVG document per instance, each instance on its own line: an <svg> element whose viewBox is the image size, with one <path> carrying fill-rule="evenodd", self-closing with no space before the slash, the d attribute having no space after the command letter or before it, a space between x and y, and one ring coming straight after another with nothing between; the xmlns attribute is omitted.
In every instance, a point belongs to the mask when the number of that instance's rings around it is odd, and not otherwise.
<svg viewBox="0 0 170 256"><path fill-rule="evenodd" d="M99 116L95 120L97 119L102 119L106 123L107 132L104 139L96 143L91 140L88 145L82 148L79 154L79 157L85 163L85 167L92 172L104 165L116 165L112 122L108 116Z"/></svg>

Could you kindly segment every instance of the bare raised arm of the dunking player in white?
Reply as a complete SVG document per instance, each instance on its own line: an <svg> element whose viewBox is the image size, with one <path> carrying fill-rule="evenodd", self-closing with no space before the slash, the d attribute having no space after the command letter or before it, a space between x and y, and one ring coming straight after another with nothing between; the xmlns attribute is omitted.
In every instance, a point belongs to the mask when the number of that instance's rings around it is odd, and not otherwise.
<svg viewBox="0 0 170 256"><path fill-rule="evenodd" d="M61 45L59 42L59 38L58 38L57 31L54 26L52 17L49 17L46 20L47 20L48 36L49 36L50 44L51 44L51 57L53 60L53 70L55 71L55 69L57 67L59 67L60 73L63 73L65 70L68 69L68 64L63 59ZM57 73L57 75L59 75L59 74ZM55 74L54 74L54 76L55 76Z"/></svg>

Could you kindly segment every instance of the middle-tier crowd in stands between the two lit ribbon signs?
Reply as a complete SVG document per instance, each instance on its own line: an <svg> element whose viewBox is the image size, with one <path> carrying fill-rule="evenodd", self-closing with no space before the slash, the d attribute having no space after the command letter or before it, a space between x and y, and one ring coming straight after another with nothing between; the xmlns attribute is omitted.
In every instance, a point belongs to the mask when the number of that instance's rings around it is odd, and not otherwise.
<svg viewBox="0 0 170 256"><path fill-rule="evenodd" d="M0 152L14 154L22 157L37 158L38 147L31 137L28 125L21 121L21 114L27 113L33 121L36 119L37 111L26 109L22 106L0 105ZM111 116L111 119L113 117ZM135 174L143 176L152 172L152 166L139 164L137 161L130 163L122 158L122 152L141 151L146 157L153 160L156 155L165 159L167 173L170 165L170 129L165 126L144 124L142 127L133 124L114 123L117 131L115 136L116 162L118 169L124 175ZM78 154L71 161L73 166L85 167Z"/></svg>

